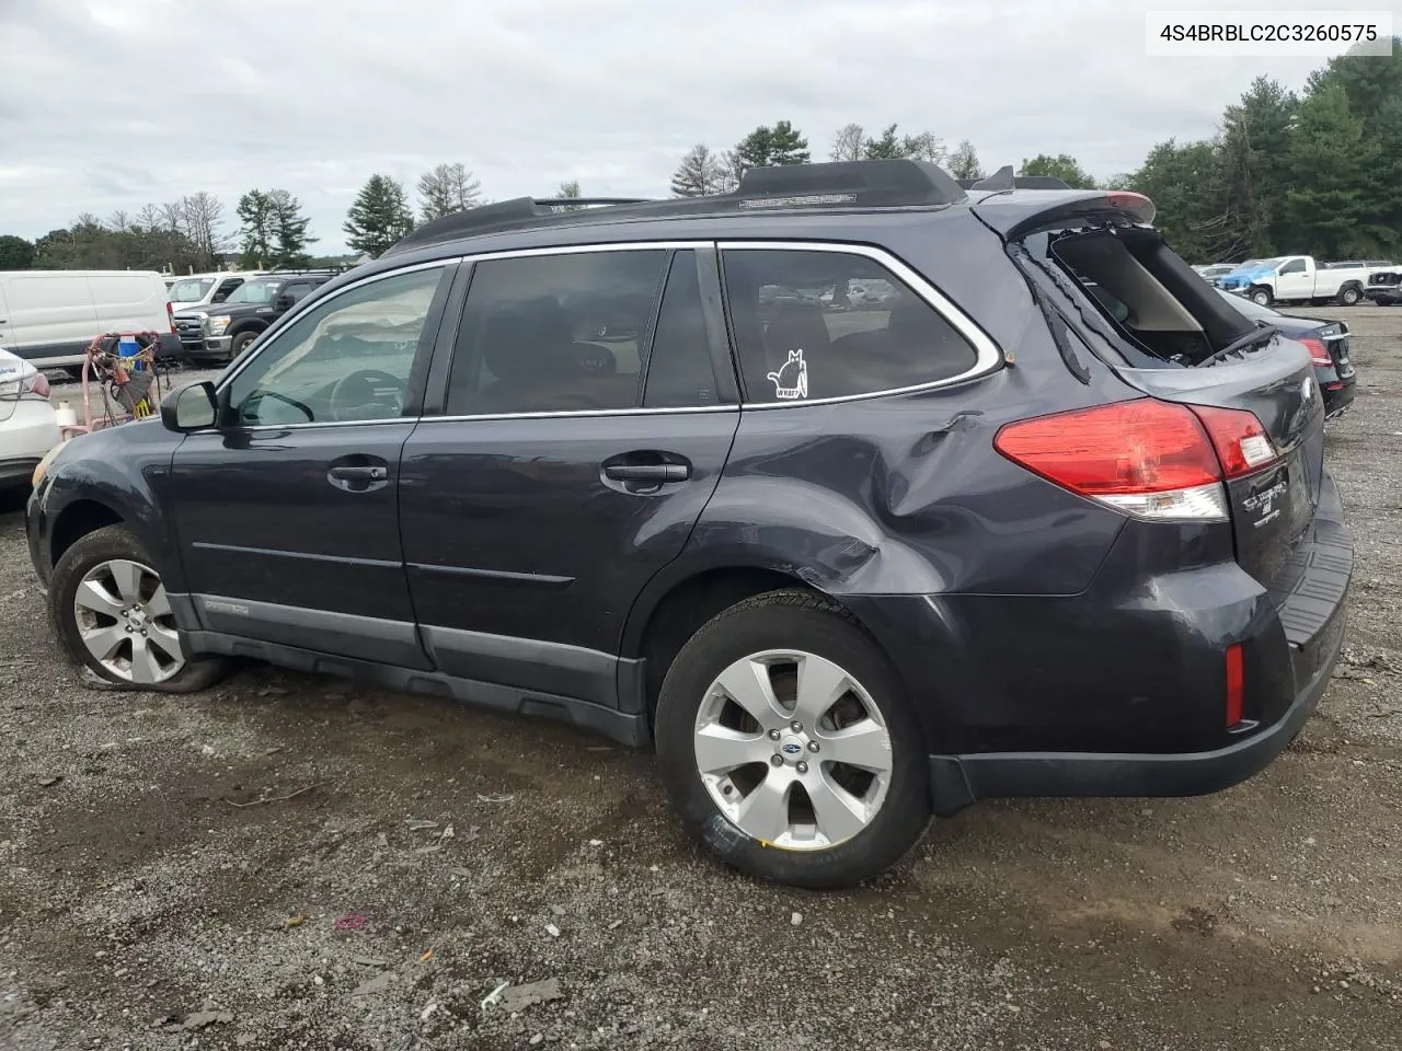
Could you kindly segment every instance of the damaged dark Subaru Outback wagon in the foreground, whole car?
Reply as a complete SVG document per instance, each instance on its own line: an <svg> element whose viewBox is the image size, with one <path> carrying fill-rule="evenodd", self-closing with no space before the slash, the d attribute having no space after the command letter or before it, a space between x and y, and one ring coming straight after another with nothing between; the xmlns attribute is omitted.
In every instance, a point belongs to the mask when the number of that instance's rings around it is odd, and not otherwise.
<svg viewBox="0 0 1402 1051"><path fill-rule="evenodd" d="M53 629L140 688L258 657L651 743L815 887L976 799L1225 788L1353 555L1309 353L1151 219L880 161L429 223L41 468Z"/></svg>

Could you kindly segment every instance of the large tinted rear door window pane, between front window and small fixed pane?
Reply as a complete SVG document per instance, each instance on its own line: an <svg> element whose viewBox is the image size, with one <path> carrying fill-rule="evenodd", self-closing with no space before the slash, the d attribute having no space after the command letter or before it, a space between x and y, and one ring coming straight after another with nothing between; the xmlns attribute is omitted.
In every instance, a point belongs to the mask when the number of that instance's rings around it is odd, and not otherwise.
<svg viewBox="0 0 1402 1051"><path fill-rule="evenodd" d="M666 262L638 249L474 263L447 413L635 408Z"/></svg>

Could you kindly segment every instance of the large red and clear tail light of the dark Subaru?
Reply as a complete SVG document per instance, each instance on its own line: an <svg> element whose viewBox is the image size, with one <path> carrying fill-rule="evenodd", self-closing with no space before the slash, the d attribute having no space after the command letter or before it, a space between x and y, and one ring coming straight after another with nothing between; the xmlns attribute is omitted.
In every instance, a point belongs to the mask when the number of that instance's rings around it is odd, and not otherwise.
<svg viewBox="0 0 1402 1051"><path fill-rule="evenodd" d="M1223 479L1276 460L1253 413L1152 398L1008 423L993 444L1063 489L1155 521L1225 521Z"/></svg>

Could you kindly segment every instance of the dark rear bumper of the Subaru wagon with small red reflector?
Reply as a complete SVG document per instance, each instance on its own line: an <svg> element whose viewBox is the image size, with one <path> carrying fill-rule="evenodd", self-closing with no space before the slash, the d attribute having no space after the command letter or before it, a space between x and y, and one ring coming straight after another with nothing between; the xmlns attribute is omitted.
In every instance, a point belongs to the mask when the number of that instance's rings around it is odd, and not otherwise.
<svg viewBox="0 0 1402 1051"><path fill-rule="evenodd" d="M1189 796L1245 781L1319 703L1352 575L1325 475L1314 523L1269 587L1206 530L1175 541L1127 523L1081 594L843 601L917 701L932 804L949 814L977 799ZM1225 652L1238 643L1245 717L1228 727Z"/></svg>

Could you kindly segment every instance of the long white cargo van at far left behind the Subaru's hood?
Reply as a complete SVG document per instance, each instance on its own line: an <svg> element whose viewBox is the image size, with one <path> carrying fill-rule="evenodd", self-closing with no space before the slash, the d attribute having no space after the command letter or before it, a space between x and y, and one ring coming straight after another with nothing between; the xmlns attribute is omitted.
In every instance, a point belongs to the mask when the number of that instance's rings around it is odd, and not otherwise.
<svg viewBox="0 0 1402 1051"><path fill-rule="evenodd" d="M160 332L163 350L179 349L160 273L0 270L0 350L38 369L76 366L104 332Z"/></svg>

